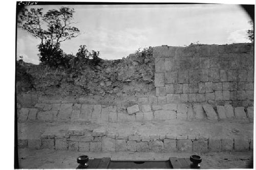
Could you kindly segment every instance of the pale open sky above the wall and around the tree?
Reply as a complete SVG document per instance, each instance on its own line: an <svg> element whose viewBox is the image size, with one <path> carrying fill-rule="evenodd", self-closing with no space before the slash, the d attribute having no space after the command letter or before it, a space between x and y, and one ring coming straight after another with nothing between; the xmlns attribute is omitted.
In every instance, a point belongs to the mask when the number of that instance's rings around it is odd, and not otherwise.
<svg viewBox="0 0 256 170"><path fill-rule="evenodd" d="M61 6L33 6L58 9ZM100 52L102 59L121 59L148 46L184 46L191 42L230 44L250 42L246 30L250 17L238 5L70 5L74 24L81 35L61 42L61 49L75 55L79 45ZM17 58L39 63L40 43L17 29Z"/></svg>

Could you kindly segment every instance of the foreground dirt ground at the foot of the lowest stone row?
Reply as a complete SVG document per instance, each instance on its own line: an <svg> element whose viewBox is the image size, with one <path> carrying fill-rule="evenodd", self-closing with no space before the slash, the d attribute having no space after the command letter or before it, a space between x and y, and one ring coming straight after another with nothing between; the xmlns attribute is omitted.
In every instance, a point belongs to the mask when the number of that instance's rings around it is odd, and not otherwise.
<svg viewBox="0 0 256 170"><path fill-rule="evenodd" d="M108 157L111 160L167 160L169 157L186 158L187 153L96 153L53 150L19 150L19 168L76 168L76 158L79 155L89 155L89 158ZM253 152L219 152L201 154L201 168L249 168Z"/></svg>

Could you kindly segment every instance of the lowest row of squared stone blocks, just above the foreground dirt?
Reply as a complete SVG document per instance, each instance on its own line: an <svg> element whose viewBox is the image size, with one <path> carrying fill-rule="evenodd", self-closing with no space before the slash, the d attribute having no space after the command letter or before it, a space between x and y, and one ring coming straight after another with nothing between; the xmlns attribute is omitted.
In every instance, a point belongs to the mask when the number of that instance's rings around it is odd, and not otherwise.
<svg viewBox="0 0 256 170"><path fill-rule="evenodd" d="M194 135L107 135L104 129L68 130L42 134L40 139L18 139L19 148L82 152L218 152L253 150L251 138L207 138Z"/></svg>

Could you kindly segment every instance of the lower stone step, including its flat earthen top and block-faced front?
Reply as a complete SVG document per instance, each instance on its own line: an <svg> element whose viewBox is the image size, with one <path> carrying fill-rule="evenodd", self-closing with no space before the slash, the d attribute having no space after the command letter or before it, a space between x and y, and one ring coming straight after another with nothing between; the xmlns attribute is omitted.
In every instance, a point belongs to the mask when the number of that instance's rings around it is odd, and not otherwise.
<svg viewBox="0 0 256 170"><path fill-rule="evenodd" d="M248 151L253 149L253 123L19 123L18 143L19 148L84 152Z"/></svg>

